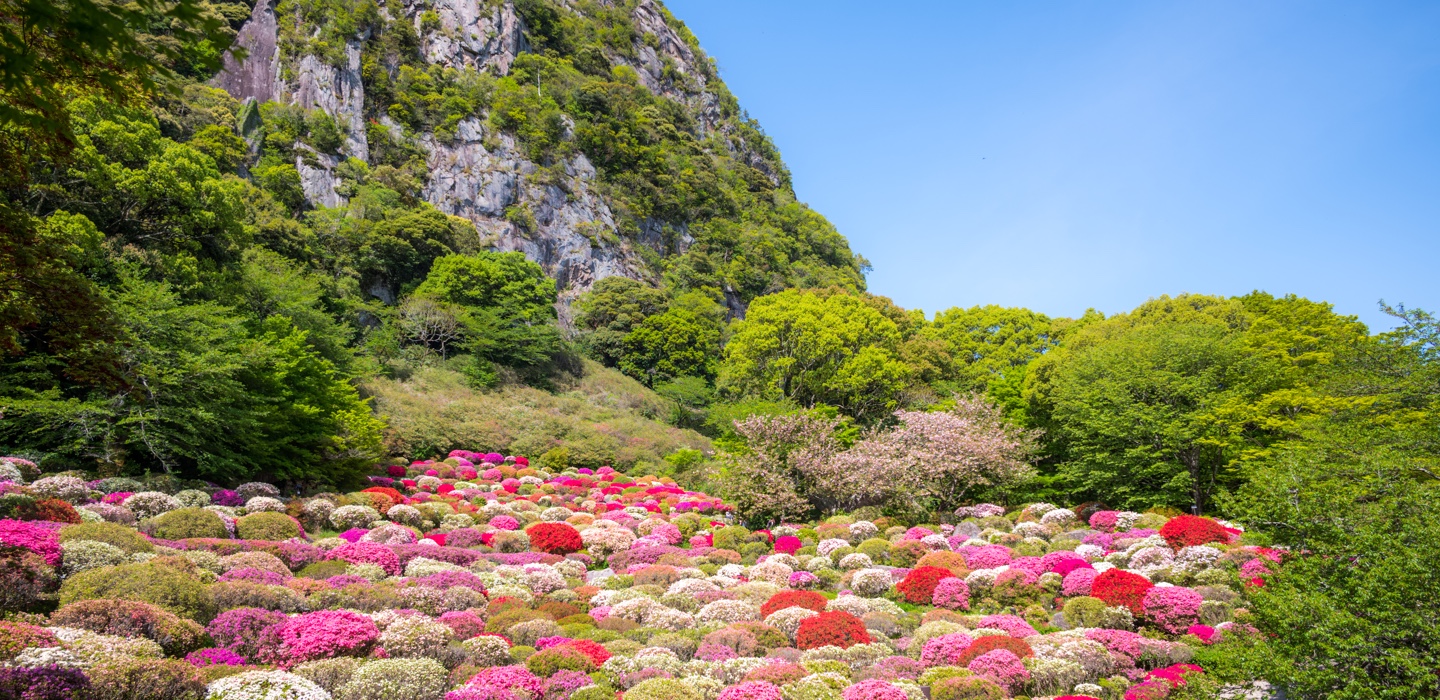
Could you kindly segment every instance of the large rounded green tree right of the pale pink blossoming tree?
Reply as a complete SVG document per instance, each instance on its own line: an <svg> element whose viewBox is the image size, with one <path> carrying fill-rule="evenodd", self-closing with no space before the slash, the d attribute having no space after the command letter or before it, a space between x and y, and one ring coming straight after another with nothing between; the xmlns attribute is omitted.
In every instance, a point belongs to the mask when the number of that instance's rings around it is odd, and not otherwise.
<svg viewBox="0 0 1440 700"><path fill-rule="evenodd" d="M1299 418L1348 403L1323 389L1329 359L1364 333L1297 297L1161 297L1031 363L1027 410L1081 497L1205 510Z"/></svg>

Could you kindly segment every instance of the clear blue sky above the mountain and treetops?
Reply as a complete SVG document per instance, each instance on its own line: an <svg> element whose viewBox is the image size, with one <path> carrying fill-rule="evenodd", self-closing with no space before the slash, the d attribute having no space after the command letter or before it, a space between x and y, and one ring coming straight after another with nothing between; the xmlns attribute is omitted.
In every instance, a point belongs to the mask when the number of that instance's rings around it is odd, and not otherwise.
<svg viewBox="0 0 1440 700"><path fill-rule="evenodd" d="M667 6L903 307L1440 311L1440 3Z"/></svg>

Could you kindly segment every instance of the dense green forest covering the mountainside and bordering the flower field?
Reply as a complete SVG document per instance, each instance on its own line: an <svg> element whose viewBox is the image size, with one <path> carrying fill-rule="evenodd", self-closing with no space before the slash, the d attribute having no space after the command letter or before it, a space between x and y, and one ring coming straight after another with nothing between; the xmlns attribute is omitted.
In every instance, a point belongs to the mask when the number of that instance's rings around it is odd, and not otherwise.
<svg viewBox="0 0 1440 700"><path fill-rule="evenodd" d="M867 292L868 264L662 7L481 6L520 20L508 65L425 60L448 30L431 10L278 3L282 73L359 52L357 157L336 114L215 86L246 1L0 0L0 451L318 491L484 447L671 477L760 524L978 500L1220 514L1318 556L1259 598L1279 641L1215 673L1437 697L1433 315L1382 304L1394 328L1367 328L1261 291L904 310ZM698 56L662 60L658 92L632 68L661 42L642 10ZM557 278L428 200L467 130L562 202L592 166L608 219L573 230L628 274ZM504 230L540 245L550 216L517 200ZM927 415L1004 436L1015 468L969 491L809 483L900 464L943 428Z"/></svg>

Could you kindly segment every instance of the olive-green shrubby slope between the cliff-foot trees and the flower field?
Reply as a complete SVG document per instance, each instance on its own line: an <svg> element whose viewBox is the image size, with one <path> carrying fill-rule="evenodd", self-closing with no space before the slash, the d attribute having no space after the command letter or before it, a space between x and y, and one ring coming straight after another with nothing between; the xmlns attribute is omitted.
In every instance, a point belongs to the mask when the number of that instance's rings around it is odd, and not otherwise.
<svg viewBox="0 0 1440 700"><path fill-rule="evenodd" d="M492 449L557 467L628 470L658 465L681 448L711 449L703 435L662 422L670 412L665 399L589 360L583 377L554 393L514 385L480 392L459 373L438 367L405 380L367 379L363 390L389 423L386 447L396 457Z"/></svg>

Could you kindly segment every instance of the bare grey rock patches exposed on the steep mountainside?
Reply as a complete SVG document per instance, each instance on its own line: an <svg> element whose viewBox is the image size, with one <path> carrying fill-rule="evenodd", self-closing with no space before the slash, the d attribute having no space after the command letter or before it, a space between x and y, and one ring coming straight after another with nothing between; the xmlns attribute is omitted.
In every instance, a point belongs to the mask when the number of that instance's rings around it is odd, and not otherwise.
<svg viewBox="0 0 1440 700"><path fill-rule="evenodd" d="M314 55L282 62L274 1L259 0L238 39L248 56L226 56L213 82L239 99L274 99L334 117L344 134L341 157L311 151L297 157L295 166L311 205L344 205L336 192L336 167L344 157L370 161L361 81L366 36L347 42L343 66ZM389 0L382 1L382 13L415 26L419 52L432 65L505 75L516 56L530 49L513 0ZM706 89L708 59L665 22L654 1L641 0L631 14L647 42L635 42L636 58L609 56L612 63L631 66L652 94L685 105L703 133L723 133L720 99ZM387 117L377 122L399 133ZM736 153L737 140L727 143L733 156L759 163L757 170L779 181L763 158ZM456 137L448 141L423 134L419 145L429 151L423 197L441 212L471 220L482 248L520 251L554 277L562 323L569 318L569 302L598 279L624 275L654 281L654 268L636 246L668 255L693 242L684 226L655 220L644 222L632 239L618 235L616 217L596 192L596 171L585 156L564 163L560 173L549 169L544 177L533 177L540 167L524 157L514 138L494 133L480 118L461 121Z"/></svg>

